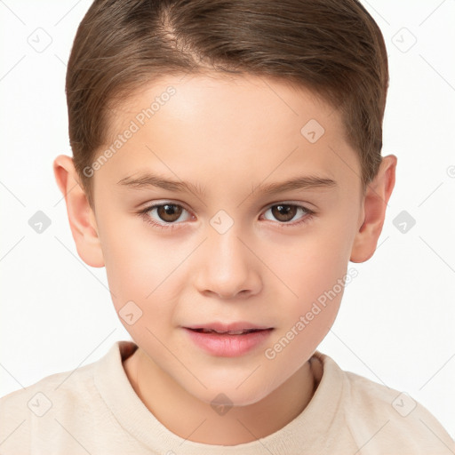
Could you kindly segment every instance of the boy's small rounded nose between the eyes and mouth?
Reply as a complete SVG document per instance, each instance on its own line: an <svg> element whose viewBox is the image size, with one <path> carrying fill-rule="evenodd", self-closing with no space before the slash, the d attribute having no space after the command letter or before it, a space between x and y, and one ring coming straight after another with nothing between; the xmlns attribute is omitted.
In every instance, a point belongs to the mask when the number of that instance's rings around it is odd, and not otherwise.
<svg viewBox="0 0 455 455"><path fill-rule="evenodd" d="M261 289L260 260L239 229L209 227L196 269L196 288L207 297L245 299Z"/></svg>

